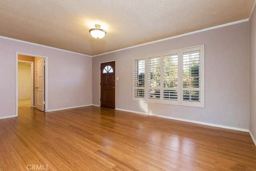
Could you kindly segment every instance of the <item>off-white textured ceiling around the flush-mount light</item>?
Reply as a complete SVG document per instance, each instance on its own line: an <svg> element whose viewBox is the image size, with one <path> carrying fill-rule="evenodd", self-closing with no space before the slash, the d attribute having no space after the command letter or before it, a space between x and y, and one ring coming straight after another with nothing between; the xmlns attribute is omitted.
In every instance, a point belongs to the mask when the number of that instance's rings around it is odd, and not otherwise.
<svg viewBox="0 0 256 171"><path fill-rule="evenodd" d="M86 55L248 18L254 0L1 0L0 35ZM94 39L89 29L107 31Z"/></svg>

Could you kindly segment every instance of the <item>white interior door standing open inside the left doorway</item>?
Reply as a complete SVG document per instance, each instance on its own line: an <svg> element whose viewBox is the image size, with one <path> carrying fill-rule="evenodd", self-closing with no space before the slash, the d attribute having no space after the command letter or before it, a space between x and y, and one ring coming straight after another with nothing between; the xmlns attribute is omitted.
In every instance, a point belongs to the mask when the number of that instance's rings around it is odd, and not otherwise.
<svg viewBox="0 0 256 171"><path fill-rule="evenodd" d="M36 108L44 111L44 59L39 59L36 65Z"/></svg>

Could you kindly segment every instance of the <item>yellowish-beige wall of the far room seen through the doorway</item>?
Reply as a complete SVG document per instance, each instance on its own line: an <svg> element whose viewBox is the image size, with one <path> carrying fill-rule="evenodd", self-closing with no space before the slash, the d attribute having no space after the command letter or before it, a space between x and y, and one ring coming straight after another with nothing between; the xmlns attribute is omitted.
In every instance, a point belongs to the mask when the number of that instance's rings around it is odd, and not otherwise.
<svg viewBox="0 0 256 171"><path fill-rule="evenodd" d="M18 63L18 100L31 98L31 65Z"/></svg>

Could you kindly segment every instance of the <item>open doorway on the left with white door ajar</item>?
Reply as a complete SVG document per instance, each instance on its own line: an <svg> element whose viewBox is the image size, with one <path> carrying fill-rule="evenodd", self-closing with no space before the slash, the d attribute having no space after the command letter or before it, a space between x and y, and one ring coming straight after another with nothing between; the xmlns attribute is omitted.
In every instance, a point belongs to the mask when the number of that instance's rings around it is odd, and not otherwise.
<svg viewBox="0 0 256 171"><path fill-rule="evenodd" d="M47 111L47 57L16 53L16 116L30 107Z"/></svg>

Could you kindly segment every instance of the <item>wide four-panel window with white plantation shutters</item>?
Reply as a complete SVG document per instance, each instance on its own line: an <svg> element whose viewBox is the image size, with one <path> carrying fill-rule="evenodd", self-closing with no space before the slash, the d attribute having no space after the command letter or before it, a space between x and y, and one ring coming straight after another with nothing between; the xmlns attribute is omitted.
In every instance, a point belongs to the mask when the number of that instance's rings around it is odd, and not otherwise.
<svg viewBox="0 0 256 171"><path fill-rule="evenodd" d="M133 100L204 107L204 45L134 58Z"/></svg>

